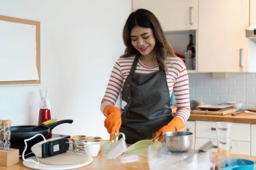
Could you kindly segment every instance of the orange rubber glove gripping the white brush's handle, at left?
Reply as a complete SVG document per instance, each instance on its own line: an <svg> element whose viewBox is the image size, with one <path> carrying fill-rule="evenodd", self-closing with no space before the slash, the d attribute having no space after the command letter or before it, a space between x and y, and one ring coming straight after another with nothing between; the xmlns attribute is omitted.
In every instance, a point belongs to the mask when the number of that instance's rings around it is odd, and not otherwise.
<svg viewBox="0 0 256 170"><path fill-rule="evenodd" d="M103 113L106 116L104 126L110 134L111 141L114 138L114 134L119 132L119 128L121 127L121 111L115 105L107 105Z"/></svg>

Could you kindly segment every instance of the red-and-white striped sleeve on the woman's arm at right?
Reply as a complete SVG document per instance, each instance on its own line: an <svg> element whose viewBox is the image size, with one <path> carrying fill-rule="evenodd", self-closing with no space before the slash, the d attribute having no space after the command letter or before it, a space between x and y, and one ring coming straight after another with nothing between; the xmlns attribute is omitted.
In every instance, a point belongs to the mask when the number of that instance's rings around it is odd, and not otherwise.
<svg viewBox="0 0 256 170"><path fill-rule="evenodd" d="M175 57L172 59L172 65L174 66L174 72L176 73L176 81L174 81L173 85L177 104L176 116L182 118L183 122L187 122L191 112L189 100L189 75L181 58Z"/></svg>

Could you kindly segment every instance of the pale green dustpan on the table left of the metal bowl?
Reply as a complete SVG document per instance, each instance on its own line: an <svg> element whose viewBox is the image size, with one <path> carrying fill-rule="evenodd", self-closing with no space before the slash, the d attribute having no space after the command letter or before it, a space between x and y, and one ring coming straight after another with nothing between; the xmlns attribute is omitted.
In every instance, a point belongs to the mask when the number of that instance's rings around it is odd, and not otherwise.
<svg viewBox="0 0 256 170"><path fill-rule="evenodd" d="M129 153L131 155L138 155L141 157L148 157L148 146L151 144L159 144L159 146L162 144L159 141L153 141L153 140L139 140L138 142L135 142L131 146L127 148L125 153Z"/></svg>

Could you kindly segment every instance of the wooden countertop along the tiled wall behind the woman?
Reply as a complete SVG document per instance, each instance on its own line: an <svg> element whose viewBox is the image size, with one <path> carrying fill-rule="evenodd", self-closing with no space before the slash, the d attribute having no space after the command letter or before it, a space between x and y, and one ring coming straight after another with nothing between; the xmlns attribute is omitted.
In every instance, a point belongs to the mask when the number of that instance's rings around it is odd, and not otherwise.
<svg viewBox="0 0 256 170"><path fill-rule="evenodd" d="M256 124L256 115L255 114L237 114L232 116L227 114L224 116L218 115L209 115L209 114L191 114L189 120L195 121L212 121L212 122L233 122L233 123L242 123L242 124Z"/></svg>

